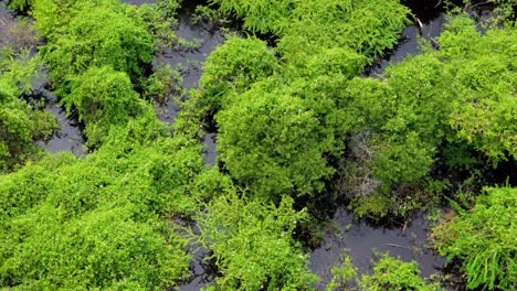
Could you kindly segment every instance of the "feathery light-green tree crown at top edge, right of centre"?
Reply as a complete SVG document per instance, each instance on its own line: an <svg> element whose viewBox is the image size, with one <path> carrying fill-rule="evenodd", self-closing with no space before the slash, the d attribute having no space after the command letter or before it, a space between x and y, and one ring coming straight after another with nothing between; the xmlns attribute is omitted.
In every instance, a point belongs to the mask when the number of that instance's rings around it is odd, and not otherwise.
<svg viewBox="0 0 517 291"><path fill-rule="evenodd" d="M408 24L409 10L399 1L294 2L291 19L282 20L285 29L278 41L278 51L289 62L304 62L310 55L338 47L372 61L371 57L393 47Z"/></svg>

